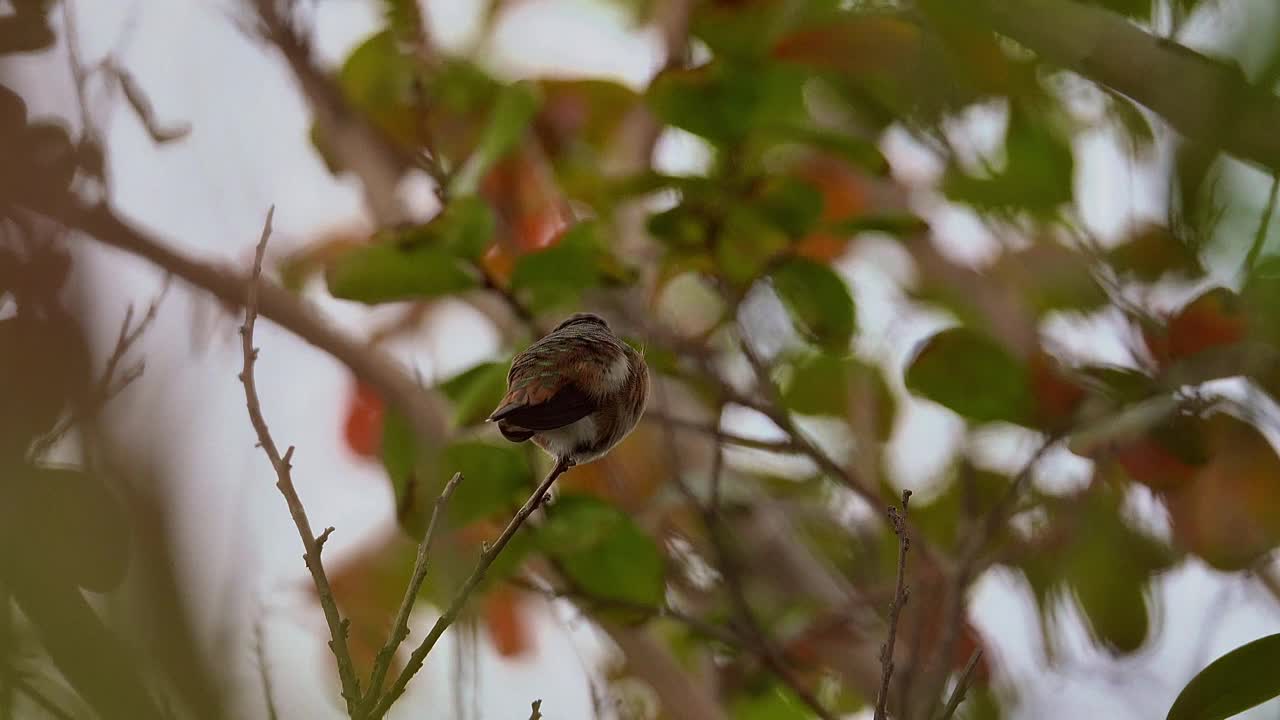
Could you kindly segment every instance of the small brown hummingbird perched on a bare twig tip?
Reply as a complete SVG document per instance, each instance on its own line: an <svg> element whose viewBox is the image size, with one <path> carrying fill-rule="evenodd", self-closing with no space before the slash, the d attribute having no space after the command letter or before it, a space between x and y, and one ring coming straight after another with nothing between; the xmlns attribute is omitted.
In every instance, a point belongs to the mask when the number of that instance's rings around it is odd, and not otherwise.
<svg viewBox="0 0 1280 720"><path fill-rule="evenodd" d="M507 395L489 415L512 442L532 439L568 466L603 457L627 437L649 400L644 356L604 318L576 313L516 355Z"/></svg>

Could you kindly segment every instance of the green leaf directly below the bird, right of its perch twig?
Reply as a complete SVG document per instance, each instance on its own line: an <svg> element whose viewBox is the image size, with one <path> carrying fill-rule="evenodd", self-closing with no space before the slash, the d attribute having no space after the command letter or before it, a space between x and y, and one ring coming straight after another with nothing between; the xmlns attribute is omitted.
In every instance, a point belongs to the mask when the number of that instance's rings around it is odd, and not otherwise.
<svg viewBox="0 0 1280 720"><path fill-rule="evenodd" d="M589 496L561 496L538 538L568 579L591 597L646 607L662 603L662 553L653 538L617 507Z"/></svg>

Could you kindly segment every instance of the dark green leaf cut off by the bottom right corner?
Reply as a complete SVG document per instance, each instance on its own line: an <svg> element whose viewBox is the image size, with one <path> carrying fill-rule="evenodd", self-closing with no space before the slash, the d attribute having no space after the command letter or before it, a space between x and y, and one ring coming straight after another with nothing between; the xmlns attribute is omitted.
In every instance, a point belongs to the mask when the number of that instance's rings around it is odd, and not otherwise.
<svg viewBox="0 0 1280 720"><path fill-rule="evenodd" d="M1169 708L1169 720L1221 720L1280 696L1280 634L1243 644L1201 670Z"/></svg>

